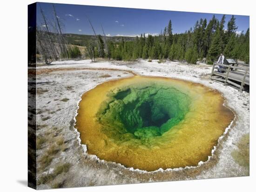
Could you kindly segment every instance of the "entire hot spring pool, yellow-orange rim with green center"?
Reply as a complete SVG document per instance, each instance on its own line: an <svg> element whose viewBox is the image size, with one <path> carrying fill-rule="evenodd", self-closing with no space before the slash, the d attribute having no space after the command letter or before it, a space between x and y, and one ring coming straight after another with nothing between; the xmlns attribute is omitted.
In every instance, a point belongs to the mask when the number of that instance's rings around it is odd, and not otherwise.
<svg viewBox="0 0 256 192"><path fill-rule="evenodd" d="M202 84L135 76L83 94L76 128L101 160L147 171L196 166L234 119L223 102Z"/></svg>

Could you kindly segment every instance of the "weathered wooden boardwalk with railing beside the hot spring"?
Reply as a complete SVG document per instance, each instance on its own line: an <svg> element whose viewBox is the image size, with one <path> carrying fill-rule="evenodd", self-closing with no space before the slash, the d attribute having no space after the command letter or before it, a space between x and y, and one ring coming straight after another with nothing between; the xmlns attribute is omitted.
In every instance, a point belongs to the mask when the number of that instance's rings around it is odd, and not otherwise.
<svg viewBox="0 0 256 192"><path fill-rule="evenodd" d="M222 66L223 68L219 68ZM219 71L222 71L219 72ZM237 87L240 91L244 85L250 85L249 67L247 66L232 66L226 64L213 64L210 78L220 81L224 85L231 84Z"/></svg>

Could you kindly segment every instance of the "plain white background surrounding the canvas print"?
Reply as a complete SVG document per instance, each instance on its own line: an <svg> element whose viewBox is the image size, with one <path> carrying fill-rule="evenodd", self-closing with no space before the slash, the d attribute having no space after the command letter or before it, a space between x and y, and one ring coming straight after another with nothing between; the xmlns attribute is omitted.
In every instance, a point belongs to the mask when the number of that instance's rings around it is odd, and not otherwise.
<svg viewBox="0 0 256 192"><path fill-rule="evenodd" d="M42 0L81 5L250 15L250 72L256 73L253 0ZM33 0L0 1L0 191L33 191L27 187L27 5ZM122 186L58 189L104 191L255 191L255 78L250 91L250 176ZM85 173L86 174L86 173ZM253 189L254 188L254 189Z"/></svg>

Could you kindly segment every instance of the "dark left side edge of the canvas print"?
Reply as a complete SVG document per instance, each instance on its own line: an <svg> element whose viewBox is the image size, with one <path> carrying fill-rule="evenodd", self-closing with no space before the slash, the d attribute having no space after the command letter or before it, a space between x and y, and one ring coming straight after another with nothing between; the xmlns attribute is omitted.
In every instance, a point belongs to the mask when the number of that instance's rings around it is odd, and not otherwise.
<svg viewBox="0 0 256 192"><path fill-rule="evenodd" d="M28 186L36 189L36 3L28 5Z"/></svg>

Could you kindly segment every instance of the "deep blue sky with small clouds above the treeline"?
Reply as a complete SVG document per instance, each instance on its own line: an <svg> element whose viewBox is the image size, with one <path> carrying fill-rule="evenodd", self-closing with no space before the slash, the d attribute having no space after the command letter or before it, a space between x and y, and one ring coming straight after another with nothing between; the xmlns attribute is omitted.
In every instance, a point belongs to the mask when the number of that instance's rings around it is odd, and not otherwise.
<svg viewBox="0 0 256 192"><path fill-rule="evenodd" d="M39 3L37 6L37 21L41 24L40 7L47 19L52 19L53 6L51 3ZM90 18L97 34L102 34L101 25L108 36L135 36L141 33L157 34L172 20L173 33L182 33L195 25L196 20L207 19L213 13L193 13L178 11L161 11L148 9L132 9L106 6L84 6L71 4L54 4L58 17L64 24L65 33L93 34L86 15ZM217 19L222 14L215 14ZM231 15L226 15L225 28ZM235 15L237 32L246 32L249 28L249 16Z"/></svg>

